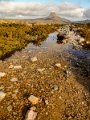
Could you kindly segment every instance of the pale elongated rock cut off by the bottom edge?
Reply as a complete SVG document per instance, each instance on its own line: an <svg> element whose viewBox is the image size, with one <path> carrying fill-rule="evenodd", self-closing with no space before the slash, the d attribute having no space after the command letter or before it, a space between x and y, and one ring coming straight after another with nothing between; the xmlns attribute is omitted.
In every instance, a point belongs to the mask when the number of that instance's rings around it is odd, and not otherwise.
<svg viewBox="0 0 90 120"><path fill-rule="evenodd" d="M34 110L31 108L28 110L25 120L35 120L37 117L37 112L34 112Z"/></svg>

